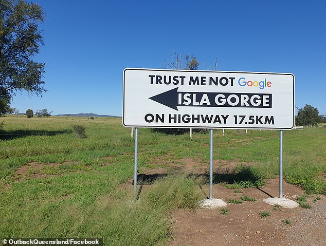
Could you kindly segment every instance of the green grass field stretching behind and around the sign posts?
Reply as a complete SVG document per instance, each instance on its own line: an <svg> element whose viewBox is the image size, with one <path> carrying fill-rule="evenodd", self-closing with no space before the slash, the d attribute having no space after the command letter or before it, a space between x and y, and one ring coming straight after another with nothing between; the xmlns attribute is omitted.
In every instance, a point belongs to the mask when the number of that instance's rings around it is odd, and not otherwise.
<svg viewBox="0 0 326 246"><path fill-rule="evenodd" d="M103 237L105 245L165 244L171 238L171 211L194 210L204 198L198 183L207 182L207 176L183 174L173 164L183 166L188 158L208 166L208 133L190 139L188 134L139 129L138 173L166 168L171 175L157 179L134 202L132 190L124 185L133 177L134 140L120 118L9 116L2 121L3 237ZM76 124L85 126L86 138L76 137ZM278 131L225 133L223 137L222 130L214 130L214 159L238 165L215 173L215 183L255 186L278 175ZM284 178L306 193L326 194L325 137L325 128L284 131Z"/></svg>

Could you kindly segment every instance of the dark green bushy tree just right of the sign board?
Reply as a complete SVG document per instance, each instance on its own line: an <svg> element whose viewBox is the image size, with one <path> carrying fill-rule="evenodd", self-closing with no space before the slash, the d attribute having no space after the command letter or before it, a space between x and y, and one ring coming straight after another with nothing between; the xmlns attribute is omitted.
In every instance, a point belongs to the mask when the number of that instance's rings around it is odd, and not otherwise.
<svg viewBox="0 0 326 246"><path fill-rule="evenodd" d="M298 114L295 117L296 125L317 125L320 123L320 117L318 116L318 109L311 105L305 104L303 108L296 107Z"/></svg>

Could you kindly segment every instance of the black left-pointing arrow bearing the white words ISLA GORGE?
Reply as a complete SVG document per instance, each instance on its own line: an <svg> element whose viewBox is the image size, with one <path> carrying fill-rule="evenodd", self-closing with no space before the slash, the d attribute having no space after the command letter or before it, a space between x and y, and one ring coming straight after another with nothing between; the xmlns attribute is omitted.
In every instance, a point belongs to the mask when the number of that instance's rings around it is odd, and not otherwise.
<svg viewBox="0 0 326 246"><path fill-rule="evenodd" d="M178 110L178 106L271 108L271 94L195 91L184 92L177 91L178 88L179 87L176 87L172 90L162 92L149 99L175 110ZM230 98L228 101L227 99L229 96ZM202 98L204 99L203 101Z"/></svg>

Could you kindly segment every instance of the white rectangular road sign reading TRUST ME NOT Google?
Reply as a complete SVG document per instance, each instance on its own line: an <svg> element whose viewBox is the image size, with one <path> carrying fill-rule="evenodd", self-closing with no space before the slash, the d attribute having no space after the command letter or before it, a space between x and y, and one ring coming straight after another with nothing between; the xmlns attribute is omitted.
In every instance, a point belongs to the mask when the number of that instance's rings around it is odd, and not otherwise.
<svg viewBox="0 0 326 246"><path fill-rule="evenodd" d="M126 127L294 127L291 73L126 68Z"/></svg>

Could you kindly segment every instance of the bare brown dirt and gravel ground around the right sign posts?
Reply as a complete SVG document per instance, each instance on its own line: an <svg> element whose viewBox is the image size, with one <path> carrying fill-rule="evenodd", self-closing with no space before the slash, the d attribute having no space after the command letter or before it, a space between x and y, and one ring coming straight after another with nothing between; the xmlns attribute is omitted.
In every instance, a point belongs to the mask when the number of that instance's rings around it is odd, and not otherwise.
<svg viewBox="0 0 326 246"><path fill-rule="evenodd" d="M208 193L209 187L203 186ZM213 185L213 198L227 202L228 215L219 209L198 209L196 212L175 211L173 213L174 241L169 246L179 245L326 245L326 198L313 202L317 195L311 195L307 202L311 209L275 208L263 199L279 196L278 179L267 180L260 189L244 188L243 193ZM300 187L283 182L283 196L296 200L303 195ZM228 203L229 199L240 199L246 195L256 201L242 204ZM270 216L262 217L261 211ZM286 224L284 219L291 221Z"/></svg>

